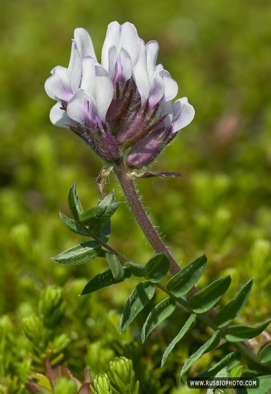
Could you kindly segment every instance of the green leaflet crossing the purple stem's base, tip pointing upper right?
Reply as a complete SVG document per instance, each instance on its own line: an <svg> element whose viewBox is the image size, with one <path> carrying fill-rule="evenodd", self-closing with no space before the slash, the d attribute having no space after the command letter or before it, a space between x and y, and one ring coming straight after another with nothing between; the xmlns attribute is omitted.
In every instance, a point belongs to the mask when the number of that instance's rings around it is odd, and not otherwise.
<svg viewBox="0 0 271 394"><path fill-rule="evenodd" d="M181 271L174 275L167 284L167 290L176 297L185 296L201 278L207 263L205 255L198 257L187 264Z"/></svg>

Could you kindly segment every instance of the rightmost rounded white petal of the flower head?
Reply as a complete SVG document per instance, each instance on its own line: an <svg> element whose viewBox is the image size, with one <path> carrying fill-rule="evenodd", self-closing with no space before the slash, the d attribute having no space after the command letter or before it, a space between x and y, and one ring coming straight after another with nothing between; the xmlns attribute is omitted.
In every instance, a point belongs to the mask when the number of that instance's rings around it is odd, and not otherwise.
<svg viewBox="0 0 271 394"><path fill-rule="evenodd" d="M195 109L189 104L187 97L178 99L173 104L173 121L171 134L183 129L192 122L195 116Z"/></svg>

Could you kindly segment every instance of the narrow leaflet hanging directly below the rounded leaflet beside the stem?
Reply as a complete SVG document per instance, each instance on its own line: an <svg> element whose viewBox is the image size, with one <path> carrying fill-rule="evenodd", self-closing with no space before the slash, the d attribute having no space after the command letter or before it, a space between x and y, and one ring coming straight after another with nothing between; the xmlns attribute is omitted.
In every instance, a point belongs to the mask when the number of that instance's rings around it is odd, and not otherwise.
<svg viewBox="0 0 271 394"><path fill-rule="evenodd" d="M174 312L175 306L176 302L174 298L168 297L163 299L163 301L159 302L159 304L152 309L142 328L142 342L145 342L149 333Z"/></svg>

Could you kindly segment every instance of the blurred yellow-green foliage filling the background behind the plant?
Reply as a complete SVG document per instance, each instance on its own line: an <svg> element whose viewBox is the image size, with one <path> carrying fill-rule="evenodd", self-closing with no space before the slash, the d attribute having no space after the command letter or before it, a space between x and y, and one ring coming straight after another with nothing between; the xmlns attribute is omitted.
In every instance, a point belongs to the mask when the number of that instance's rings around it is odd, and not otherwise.
<svg viewBox="0 0 271 394"><path fill-rule="evenodd" d="M118 333L118 313L136 280L78 298L87 280L106 268L103 260L67 267L50 259L83 240L68 231L58 212L69 216L67 195L75 179L84 208L97 204L95 179L102 163L70 131L50 124L54 102L44 81L54 66L68 66L76 27L89 31L98 59L112 20L128 20L145 41L159 42L158 62L178 82L177 98L187 96L196 117L153 166L181 172L182 178L140 179L140 194L182 266L206 253L200 285L231 274L225 303L254 276L241 319L262 322L271 315L271 3L0 2L0 354L6 355L0 356L0 381L9 387L4 393L19 393L28 374L44 372L46 358L67 364L83 380L85 367L93 376L105 373L116 356L133 360L135 379L144 370L139 392L170 392L193 346L204 340L204 329L192 330L166 369L159 369L177 333L174 321L157 328L144 345L138 341L140 315L133 331ZM106 191L113 188L124 202L111 177ZM134 263L152 256L125 203L112 218L110 244ZM63 289L50 287L49 294L49 285ZM180 325L185 318L179 311ZM214 352L217 360L221 352ZM211 362L205 356L199 370Z"/></svg>

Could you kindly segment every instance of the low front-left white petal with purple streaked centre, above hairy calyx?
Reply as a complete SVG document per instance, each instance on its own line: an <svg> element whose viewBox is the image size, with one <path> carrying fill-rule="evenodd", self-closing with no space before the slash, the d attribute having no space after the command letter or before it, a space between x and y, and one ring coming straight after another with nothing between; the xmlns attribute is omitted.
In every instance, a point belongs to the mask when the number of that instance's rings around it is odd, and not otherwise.
<svg viewBox="0 0 271 394"><path fill-rule="evenodd" d="M94 129L99 122L94 98L83 89L78 89L68 102L67 114L75 122Z"/></svg>

